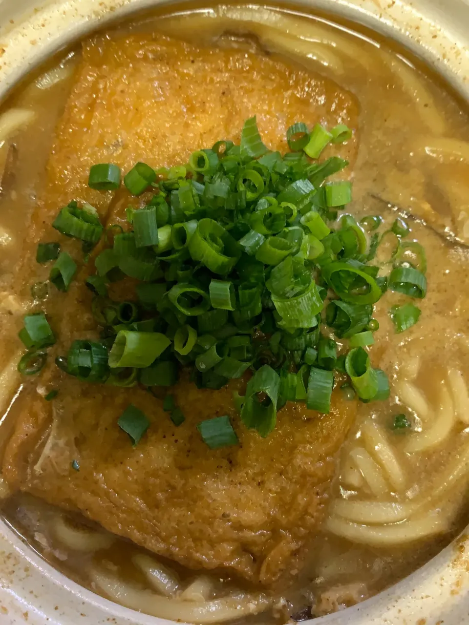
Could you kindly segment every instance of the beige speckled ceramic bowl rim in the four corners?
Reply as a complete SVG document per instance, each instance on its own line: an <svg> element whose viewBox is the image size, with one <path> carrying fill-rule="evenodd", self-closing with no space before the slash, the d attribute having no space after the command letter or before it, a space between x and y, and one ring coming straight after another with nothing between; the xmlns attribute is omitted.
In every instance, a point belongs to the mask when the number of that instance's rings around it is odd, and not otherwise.
<svg viewBox="0 0 469 625"><path fill-rule="evenodd" d="M0 98L44 58L158 0L0 0ZM469 0L309 0L403 42L469 97ZM163 625L117 606L45 564L0 521L0 625ZM386 592L315 625L469 623L469 537Z"/></svg>

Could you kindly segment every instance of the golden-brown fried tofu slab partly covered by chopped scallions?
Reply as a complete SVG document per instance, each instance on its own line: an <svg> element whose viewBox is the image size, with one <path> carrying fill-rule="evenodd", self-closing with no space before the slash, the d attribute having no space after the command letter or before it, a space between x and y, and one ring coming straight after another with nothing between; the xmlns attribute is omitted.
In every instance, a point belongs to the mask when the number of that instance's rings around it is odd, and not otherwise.
<svg viewBox="0 0 469 625"><path fill-rule="evenodd" d="M128 171L137 161L154 168L184 163L218 139L239 141L245 119L255 114L265 143L285 152L286 129L295 121L356 129L358 106L325 78L240 49L194 47L151 34L86 42L58 124L24 267L31 266L37 241L56 239L49 224L71 199L96 206L108 224L136 202L124 190L89 189L91 165L111 162ZM341 146L340 156L353 161L355 151L356 139ZM48 306L59 339L54 353L73 339L97 336L91 296L79 280L68 293L53 294ZM79 511L185 566L224 570L265 586L318 530L336 452L356 411L340 392L333 394L328 415L287 404L275 431L263 439L241 424L233 408L232 392L242 392L243 382L213 391L183 379L171 390L186 416L179 427L160 399L138 387L84 384L53 364L39 384L60 392L46 402L35 381L19 396L3 461L13 489ZM151 422L134 447L117 424L131 402ZM196 424L224 414L240 444L211 450Z"/></svg>

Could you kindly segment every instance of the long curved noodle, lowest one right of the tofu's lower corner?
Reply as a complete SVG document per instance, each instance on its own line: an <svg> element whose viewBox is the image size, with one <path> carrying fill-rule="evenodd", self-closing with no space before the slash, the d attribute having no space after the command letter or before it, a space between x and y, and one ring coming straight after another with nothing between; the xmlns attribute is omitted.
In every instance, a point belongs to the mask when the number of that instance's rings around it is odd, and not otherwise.
<svg viewBox="0 0 469 625"><path fill-rule="evenodd" d="M360 542L372 547L389 547L445 532L448 529L448 523L441 514L436 514L436 512L426 514L420 519L381 527L370 527L338 517L330 517L326 520L326 529L352 542Z"/></svg>

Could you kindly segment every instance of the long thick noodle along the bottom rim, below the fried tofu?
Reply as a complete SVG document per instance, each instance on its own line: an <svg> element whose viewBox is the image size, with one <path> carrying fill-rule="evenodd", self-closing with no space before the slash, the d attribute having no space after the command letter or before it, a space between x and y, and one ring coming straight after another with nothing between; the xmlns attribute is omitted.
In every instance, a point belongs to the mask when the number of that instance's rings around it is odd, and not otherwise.
<svg viewBox="0 0 469 625"><path fill-rule="evenodd" d="M237 599L223 597L213 601L182 601L161 597L102 570L93 569L89 576L99 591L113 601L169 621L216 624L259 614L272 606L272 600L263 594L246 594Z"/></svg>

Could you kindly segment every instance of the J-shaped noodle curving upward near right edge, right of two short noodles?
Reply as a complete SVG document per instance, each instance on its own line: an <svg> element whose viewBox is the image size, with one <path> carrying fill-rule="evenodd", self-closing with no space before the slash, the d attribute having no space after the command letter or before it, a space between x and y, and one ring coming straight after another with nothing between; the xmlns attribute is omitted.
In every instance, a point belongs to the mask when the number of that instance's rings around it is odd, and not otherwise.
<svg viewBox="0 0 469 625"><path fill-rule="evenodd" d="M453 399L446 384L441 384L440 406L438 407L435 421L428 429L410 434L404 447L405 451L408 454L415 454L438 447L450 436L455 422L456 414Z"/></svg>

